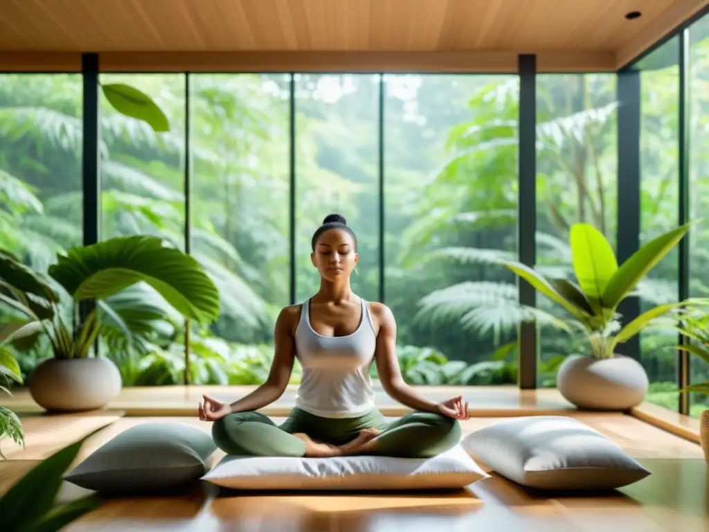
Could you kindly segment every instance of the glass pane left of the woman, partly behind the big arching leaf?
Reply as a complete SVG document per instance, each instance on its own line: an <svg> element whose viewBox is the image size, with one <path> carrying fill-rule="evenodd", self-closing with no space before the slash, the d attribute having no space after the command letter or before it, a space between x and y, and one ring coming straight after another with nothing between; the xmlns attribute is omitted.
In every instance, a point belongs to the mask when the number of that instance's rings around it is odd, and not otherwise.
<svg viewBox="0 0 709 532"><path fill-rule="evenodd" d="M192 254L221 294L218 321L193 329L191 382L261 384L290 302L290 77L190 80Z"/></svg>

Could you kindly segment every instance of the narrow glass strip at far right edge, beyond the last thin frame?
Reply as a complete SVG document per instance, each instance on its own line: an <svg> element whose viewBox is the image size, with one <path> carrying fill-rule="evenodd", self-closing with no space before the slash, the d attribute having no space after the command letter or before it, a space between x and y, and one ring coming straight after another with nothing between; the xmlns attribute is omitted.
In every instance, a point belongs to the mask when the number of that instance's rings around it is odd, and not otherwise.
<svg viewBox="0 0 709 532"><path fill-rule="evenodd" d="M690 219L703 222L690 231L690 295L709 297L709 16L689 29L689 192ZM691 382L709 382L709 365L691 357ZM691 415L709 406L709 397L691 394Z"/></svg>

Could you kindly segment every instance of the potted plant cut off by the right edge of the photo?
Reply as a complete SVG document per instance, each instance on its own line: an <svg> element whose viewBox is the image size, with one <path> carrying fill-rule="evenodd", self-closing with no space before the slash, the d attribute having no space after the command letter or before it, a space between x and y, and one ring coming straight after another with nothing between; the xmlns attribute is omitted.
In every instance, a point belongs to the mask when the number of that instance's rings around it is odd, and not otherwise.
<svg viewBox="0 0 709 532"><path fill-rule="evenodd" d="M677 348L695 355L709 365L709 314L691 309L682 314L677 329L688 338L688 343L678 345ZM709 382L689 384L680 392L705 394L709 397ZM709 463L709 409L705 409L699 417L699 441L704 458Z"/></svg>

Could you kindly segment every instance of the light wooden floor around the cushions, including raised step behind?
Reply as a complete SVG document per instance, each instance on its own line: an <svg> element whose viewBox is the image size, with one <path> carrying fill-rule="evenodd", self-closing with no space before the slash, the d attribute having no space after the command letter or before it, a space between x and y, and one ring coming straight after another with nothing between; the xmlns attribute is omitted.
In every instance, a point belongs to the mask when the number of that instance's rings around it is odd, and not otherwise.
<svg viewBox="0 0 709 532"><path fill-rule="evenodd" d="M38 460L82 436L77 462L96 448L146 421L184 423L210 431L196 419L201 394L233 401L252 387L126 388L100 411L82 414L41 414L23 390L3 404L18 411L26 431L26 448L5 440L0 462L0 494L34 467ZM629 487L603 494L540 494L519 487L492 472L492 477L456 492L415 493L233 493L220 492L206 482L170 497L108 499L101 508L66 531L476 531L504 532L659 532L709 531L708 466L698 441L698 423L679 420L682 437L663 430L676 424L651 406L634 415L576 411L554 389L527 391L515 387L425 387L421 392L440 400L463 394L474 419L463 423L464 433L503 421L509 416L559 414L573 416L597 428L652 471ZM281 421L292 407L294 389L264 409ZM407 409L378 392L386 416ZM145 413L150 416L145 416ZM659 426L642 418L654 419ZM680 431L680 432L681 432ZM696 440L694 435L696 431ZM217 453L213 460L221 458ZM484 464L481 464L484 466ZM65 483L60 499L69 501L86 490Z"/></svg>

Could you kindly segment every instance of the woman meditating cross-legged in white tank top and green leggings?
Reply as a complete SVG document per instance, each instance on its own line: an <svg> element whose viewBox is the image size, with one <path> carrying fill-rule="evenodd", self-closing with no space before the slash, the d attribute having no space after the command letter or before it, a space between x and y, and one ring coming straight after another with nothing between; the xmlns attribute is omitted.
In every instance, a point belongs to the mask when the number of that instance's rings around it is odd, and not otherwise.
<svg viewBox="0 0 709 532"><path fill-rule="evenodd" d="M430 401L403 381L391 311L357 297L350 287L359 255L345 218L327 216L312 247L320 290L279 314L266 382L233 404L206 396L199 404L199 419L214 422L216 445L230 455L405 458L428 458L457 445L458 420L469 419L468 404L460 396ZM296 357L303 367L296 407L277 426L257 410L284 393ZM385 421L374 405L372 362L384 391L413 412Z"/></svg>

